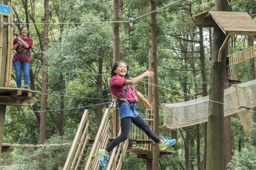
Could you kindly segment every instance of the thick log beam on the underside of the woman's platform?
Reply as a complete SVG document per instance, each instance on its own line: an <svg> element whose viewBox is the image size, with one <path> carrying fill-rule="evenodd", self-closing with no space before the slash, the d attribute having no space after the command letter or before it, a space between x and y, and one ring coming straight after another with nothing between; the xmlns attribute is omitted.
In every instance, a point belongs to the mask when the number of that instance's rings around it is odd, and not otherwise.
<svg viewBox="0 0 256 170"><path fill-rule="evenodd" d="M35 97L0 96L0 104L7 106L32 106L36 100Z"/></svg>

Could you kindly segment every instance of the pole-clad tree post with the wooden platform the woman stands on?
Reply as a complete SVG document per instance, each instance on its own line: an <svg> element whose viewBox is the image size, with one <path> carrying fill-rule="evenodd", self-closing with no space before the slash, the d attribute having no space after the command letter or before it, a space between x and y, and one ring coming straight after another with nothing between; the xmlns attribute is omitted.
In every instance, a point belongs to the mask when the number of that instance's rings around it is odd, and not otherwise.
<svg viewBox="0 0 256 170"><path fill-rule="evenodd" d="M0 0L0 4L11 6L11 15L0 15L0 23L12 23L12 3ZM13 27L10 24L0 24L0 149L9 152L9 146L2 146L6 106L32 106L36 102L33 91L23 88L10 88L13 58Z"/></svg>

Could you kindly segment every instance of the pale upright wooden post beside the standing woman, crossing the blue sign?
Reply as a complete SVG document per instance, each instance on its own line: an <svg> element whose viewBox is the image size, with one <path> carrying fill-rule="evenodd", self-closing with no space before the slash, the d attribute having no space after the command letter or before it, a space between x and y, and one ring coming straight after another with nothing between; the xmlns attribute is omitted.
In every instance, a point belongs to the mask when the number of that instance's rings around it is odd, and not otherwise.
<svg viewBox="0 0 256 170"><path fill-rule="evenodd" d="M10 5L10 2L7 2L7 5ZM7 22L11 22L11 17L7 16ZM11 52L11 26L7 26L7 58L6 58L6 79L4 83L4 87L7 87L8 85L8 75L9 75L9 65L10 65L10 52Z"/></svg>

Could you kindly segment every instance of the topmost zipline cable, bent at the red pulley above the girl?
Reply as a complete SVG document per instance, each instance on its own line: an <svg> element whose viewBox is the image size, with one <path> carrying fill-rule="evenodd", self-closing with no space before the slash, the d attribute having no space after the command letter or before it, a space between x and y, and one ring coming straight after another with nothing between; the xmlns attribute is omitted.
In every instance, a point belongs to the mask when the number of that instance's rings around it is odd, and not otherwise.
<svg viewBox="0 0 256 170"><path fill-rule="evenodd" d="M145 15L139 16L139 17L137 17L137 18L135 18L135 19L133 19L133 20L130 20L130 21L137 20L137 19L139 19L139 18L141 18L141 17L147 16L147 15L149 15L149 14L151 14L151 13L154 13L154 12L160 10L160 9L163 9L163 8L165 8L165 7L168 7L168 6L170 6L170 5L173 5L173 4L175 4L175 3L177 3L177 2L180 2L180 1L183 1L183 0L178 0L178 1L173 2L173 3L171 3L171 4L165 5L165 6L161 7L161 8L159 8L159 9L156 9L155 11L152 11L152 12L147 13L147 14L145 14ZM9 22L0 22L0 24L3 24L3 25L14 25L14 24L17 24L17 25L20 25L20 24L52 25L52 24L105 24L105 23L121 23L121 22L129 22L129 20L128 20L128 21L105 21L105 22L73 22L73 23L9 23Z"/></svg>

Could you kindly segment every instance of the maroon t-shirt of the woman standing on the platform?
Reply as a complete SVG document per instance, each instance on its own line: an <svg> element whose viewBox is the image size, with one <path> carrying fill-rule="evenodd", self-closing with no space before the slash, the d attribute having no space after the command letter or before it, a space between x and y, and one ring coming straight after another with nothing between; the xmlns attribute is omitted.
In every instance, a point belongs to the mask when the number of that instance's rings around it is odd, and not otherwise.
<svg viewBox="0 0 256 170"><path fill-rule="evenodd" d="M17 46L17 48L15 49L15 51L17 52L24 52L24 53L30 53L30 48L32 48L33 46L33 40L32 38L22 38L22 40L24 40L30 47L26 48L22 42L19 43L19 45ZM17 44L17 38L14 38L13 40L13 45ZM19 59L15 59L13 60L13 62L18 62L18 61L23 61L26 63L30 63L31 57L30 54L27 54L28 58L26 59L26 55L24 54L18 54L18 53L14 53L13 58L17 57L17 55L19 55Z"/></svg>

